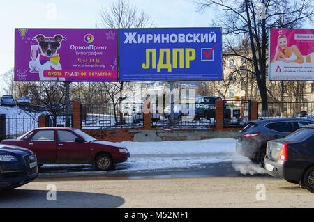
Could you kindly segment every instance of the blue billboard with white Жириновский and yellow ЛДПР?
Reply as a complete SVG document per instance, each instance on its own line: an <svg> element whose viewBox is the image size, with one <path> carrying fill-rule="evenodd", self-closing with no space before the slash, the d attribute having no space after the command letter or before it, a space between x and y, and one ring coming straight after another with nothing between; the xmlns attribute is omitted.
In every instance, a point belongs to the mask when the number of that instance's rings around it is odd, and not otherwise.
<svg viewBox="0 0 314 222"><path fill-rule="evenodd" d="M120 81L223 79L221 28L118 32Z"/></svg>

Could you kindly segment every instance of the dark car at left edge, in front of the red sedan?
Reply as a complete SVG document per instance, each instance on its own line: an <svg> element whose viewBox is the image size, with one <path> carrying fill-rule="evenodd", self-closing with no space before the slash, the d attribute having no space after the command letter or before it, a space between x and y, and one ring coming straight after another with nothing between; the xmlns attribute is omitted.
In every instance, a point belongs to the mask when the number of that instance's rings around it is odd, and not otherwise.
<svg viewBox="0 0 314 222"><path fill-rule="evenodd" d="M37 159L31 150L0 145L0 190L20 187L37 176Z"/></svg>

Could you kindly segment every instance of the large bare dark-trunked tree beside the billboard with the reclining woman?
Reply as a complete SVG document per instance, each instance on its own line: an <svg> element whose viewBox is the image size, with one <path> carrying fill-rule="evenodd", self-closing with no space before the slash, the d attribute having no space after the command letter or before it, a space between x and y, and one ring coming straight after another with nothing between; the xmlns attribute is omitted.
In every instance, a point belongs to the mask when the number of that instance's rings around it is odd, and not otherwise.
<svg viewBox="0 0 314 222"><path fill-rule="evenodd" d="M197 0L199 10L222 8L214 26L223 26L225 48L234 56L246 58L253 64L257 86L262 100L262 116L268 115L267 105L267 48L271 28L299 28L306 21L313 22L312 0ZM260 13L262 12L262 16ZM259 16L257 16L257 14ZM234 46L248 39L250 54L239 54Z"/></svg>

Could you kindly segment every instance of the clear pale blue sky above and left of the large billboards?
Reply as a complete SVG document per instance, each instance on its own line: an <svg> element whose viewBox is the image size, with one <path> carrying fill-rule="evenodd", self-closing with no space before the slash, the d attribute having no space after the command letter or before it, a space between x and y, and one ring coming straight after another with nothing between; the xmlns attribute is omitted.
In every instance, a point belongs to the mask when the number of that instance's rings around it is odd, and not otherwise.
<svg viewBox="0 0 314 222"><path fill-rule="evenodd" d="M1 2L0 79L3 79L5 72L13 68L15 28L95 28L100 19L100 8L109 8L114 1ZM129 0L129 3L143 8L151 15L156 27L206 27L210 26L211 19L214 18L209 12L197 12L193 0Z"/></svg>

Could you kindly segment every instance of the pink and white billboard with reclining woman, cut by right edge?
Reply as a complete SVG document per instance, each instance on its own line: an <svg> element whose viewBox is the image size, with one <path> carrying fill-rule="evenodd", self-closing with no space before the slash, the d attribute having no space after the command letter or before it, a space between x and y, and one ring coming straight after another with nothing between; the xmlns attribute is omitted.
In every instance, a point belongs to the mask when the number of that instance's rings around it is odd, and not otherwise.
<svg viewBox="0 0 314 222"><path fill-rule="evenodd" d="M271 29L269 80L314 80L314 29Z"/></svg>

